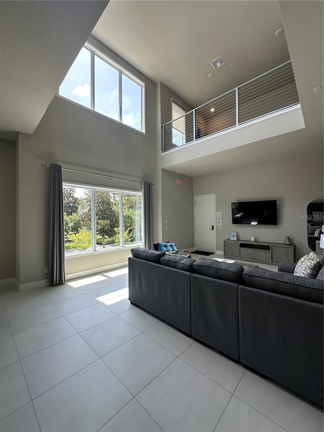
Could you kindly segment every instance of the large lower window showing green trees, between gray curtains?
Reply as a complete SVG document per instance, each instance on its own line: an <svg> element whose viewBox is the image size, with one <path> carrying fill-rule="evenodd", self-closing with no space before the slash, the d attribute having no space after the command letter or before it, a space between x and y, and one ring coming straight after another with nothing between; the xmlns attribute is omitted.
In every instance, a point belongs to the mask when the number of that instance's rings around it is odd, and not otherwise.
<svg viewBox="0 0 324 432"><path fill-rule="evenodd" d="M65 254L142 242L141 192L63 184L63 206Z"/></svg>

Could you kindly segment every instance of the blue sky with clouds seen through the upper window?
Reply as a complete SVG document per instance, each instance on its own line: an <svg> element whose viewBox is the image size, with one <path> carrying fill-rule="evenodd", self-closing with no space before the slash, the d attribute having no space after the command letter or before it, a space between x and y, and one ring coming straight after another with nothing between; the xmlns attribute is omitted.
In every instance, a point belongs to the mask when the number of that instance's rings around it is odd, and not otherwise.
<svg viewBox="0 0 324 432"><path fill-rule="evenodd" d="M91 53L82 48L63 83L59 94L91 108ZM119 72L95 55L95 110L119 120ZM141 130L141 86L122 74L123 123Z"/></svg>

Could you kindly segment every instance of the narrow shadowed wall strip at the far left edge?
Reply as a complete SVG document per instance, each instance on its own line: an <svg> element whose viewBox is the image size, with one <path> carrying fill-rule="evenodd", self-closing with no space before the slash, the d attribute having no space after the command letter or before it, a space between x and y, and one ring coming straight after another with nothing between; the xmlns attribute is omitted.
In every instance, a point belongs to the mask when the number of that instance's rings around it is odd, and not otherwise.
<svg viewBox="0 0 324 432"><path fill-rule="evenodd" d="M0 280L15 277L16 148L0 139Z"/></svg>

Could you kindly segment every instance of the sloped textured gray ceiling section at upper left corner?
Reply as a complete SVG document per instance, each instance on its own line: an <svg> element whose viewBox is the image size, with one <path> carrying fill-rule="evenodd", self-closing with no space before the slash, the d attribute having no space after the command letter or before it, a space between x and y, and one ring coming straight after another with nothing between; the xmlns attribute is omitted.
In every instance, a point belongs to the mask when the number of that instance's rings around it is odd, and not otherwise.
<svg viewBox="0 0 324 432"><path fill-rule="evenodd" d="M33 133L107 4L0 2L0 138Z"/></svg>

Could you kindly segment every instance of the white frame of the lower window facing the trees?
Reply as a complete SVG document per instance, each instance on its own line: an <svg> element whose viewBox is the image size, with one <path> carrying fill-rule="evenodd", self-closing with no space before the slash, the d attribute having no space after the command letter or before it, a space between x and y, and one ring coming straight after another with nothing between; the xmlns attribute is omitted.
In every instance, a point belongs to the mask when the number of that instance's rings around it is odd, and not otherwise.
<svg viewBox="0 0 324 432"><path fill-rule="evenodd" d="M76 257L80 255L88 255L93 253L102 253L102 252L111 252L115 251L117 249L127 249L127 248L133 248L142 246L142 241L140 242L134 242L129 245L124 245L124 235L120 235L120 227L122 227L121 232L123 232L124 229L124 214L123 214L123 194L134 194L134 195L140 195L142 197L142 192L139 190L127 190L127 189L118 189L113 187L105 187L105 186L97 186L97 185L90 185L85 183L76 183L76 182L68 182L63 181L62 187L79 187L84 189L91 190L91 239L92 239L92 250L91 251L79 251L79 252L69 252L68 254L65 253L65 259L69 257ZM96 190L103 190L106 192L117 192L119 193L119 246L114 247L106 247L99 250L96 250L96 237L97 237L97 230L96 230ZM143 207L141 208L141 215L143 214ZM143 227L142 227L143 232ZM65 249L65 248L64 248Z"/></svg>

